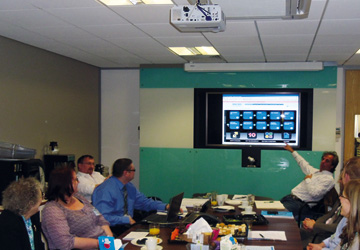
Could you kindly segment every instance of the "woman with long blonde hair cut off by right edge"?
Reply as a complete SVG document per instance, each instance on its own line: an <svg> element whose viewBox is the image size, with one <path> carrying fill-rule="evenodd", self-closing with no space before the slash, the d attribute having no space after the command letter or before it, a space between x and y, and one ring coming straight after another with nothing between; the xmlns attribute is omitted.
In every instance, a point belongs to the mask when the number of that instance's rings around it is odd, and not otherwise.
<svg viewBox="0 0 360 250"><path fill-rule="evenodd" d="M341 214L347 218L335 250L359 250L360 233L360 180L349 181L340 196Z"/></svg>

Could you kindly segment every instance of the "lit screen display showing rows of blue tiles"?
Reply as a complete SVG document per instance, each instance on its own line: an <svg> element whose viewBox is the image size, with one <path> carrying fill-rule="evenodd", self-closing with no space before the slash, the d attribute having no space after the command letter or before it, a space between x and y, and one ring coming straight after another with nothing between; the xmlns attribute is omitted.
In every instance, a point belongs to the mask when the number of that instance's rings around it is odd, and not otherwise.
<svg viewBox="0 0 360 250"><path fill-rule="evenodd" d="M300 94L223 94L223 144L299 145Z"/></svg>

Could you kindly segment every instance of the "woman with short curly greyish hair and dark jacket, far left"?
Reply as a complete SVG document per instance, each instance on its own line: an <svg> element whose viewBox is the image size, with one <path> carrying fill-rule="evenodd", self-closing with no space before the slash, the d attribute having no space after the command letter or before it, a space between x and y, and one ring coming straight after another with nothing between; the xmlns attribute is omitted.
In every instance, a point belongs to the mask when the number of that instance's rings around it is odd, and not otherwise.
<svg viewBox="0 0 360 250"><path fill-rule="evenodd" d="M40 182L29 177L10 183L4 190L4 211L0 215L1 249L44 249L38 216L42 202L40 187Z"/></svg>

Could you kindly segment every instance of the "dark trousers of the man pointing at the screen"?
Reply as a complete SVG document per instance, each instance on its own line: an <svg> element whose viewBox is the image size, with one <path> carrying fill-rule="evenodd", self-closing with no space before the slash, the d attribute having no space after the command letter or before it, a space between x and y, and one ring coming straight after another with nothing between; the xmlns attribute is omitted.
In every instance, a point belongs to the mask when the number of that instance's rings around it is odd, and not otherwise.
<svg viewBox="0 0 360 250"><path fill-rule="evenodd" d="M301 221L303 221L305 218L312 219L314 217L314 212L311 211L309 205L292 194L284 196L280 200L280 202L284 205L284 207L287 210L293 213L295 220L299 219L299 211L300 208L302 207L303 208L301 211L301 218L300 218Z"/></svg>

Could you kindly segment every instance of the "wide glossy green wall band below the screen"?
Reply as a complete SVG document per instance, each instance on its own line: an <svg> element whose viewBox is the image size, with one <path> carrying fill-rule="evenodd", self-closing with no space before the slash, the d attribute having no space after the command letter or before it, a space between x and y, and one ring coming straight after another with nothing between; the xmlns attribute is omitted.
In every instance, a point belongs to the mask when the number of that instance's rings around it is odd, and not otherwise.
<svg viewBox="0 0 360 250"><path fill-rule="evenodd" d="M320 165L322 152L299 151L310 164ZM141 148L140 187L148 196L168 201L173 195L217 191L280 199L304 174L285 150L263 150L261 168L241 167L241 150Z"/></svg>

